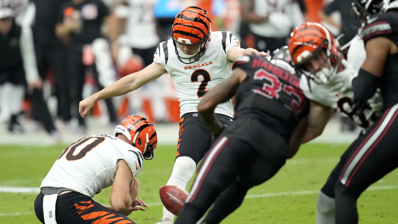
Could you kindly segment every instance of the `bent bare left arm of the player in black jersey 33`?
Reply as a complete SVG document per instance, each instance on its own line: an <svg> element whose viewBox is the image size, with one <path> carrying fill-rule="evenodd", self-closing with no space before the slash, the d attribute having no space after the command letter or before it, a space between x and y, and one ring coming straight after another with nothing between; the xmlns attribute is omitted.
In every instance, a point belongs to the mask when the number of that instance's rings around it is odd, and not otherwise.
<svg viewBox="0 0 398 224"><path fill-rule="evenodd" d="M223 125L214 114L214 109L218 104L226 102L235 95L236 89L246 79L246 76L246 72L242 69L232 70L228 79L207 91L199 102L199 115L205 126L213 133L213 137L217 137L223 129Z"/></svg>

